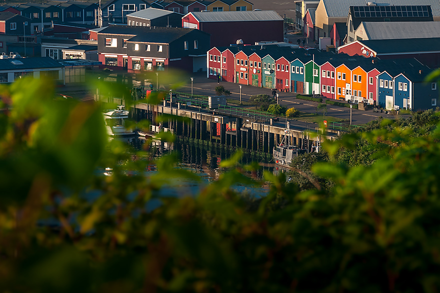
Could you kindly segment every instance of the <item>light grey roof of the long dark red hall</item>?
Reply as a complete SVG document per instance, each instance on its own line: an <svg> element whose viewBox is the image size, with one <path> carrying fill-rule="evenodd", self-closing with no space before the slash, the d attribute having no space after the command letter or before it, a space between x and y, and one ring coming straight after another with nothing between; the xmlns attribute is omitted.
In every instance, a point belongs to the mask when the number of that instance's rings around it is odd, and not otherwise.
<svg viewBox="0 0 440 293"><path fill-rule="evenodd" d="M191 13L199 22L283 20L283 18L273 10L189 13Z"/></svg>

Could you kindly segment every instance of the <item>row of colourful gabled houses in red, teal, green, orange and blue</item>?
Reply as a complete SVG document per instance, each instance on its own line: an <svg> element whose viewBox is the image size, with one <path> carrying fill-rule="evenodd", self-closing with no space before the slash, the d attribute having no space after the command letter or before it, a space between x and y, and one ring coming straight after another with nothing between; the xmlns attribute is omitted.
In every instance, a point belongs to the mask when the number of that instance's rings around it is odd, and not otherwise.
<svg viewBox="0 0 440 293"><path fill-rule="evenodd" d="M432 71L416 59L381 60L276 44L213 47L207 77L279 91L367 102L384 108L435 108Z"/></svg>

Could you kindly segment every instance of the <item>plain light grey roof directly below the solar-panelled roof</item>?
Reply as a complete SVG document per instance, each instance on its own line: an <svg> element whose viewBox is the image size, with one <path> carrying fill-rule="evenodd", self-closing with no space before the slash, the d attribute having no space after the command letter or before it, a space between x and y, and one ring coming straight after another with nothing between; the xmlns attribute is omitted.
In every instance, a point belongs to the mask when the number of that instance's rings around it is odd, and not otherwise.
<svg viewBox="0 0 440 293"><path fill-rule="evenodd" d="M440 21L362 22L368 39L440 37Z"/></svg>

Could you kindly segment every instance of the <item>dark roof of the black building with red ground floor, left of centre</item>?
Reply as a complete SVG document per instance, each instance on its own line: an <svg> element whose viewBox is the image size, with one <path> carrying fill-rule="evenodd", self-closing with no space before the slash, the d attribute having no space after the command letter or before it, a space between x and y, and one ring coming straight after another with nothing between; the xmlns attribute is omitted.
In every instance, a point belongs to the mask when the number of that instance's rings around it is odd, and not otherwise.
<svg viewBox="0 0 440 293"><path fill-rule="evenodd" d="M110 25L99 31L98 34L133 35L127 41L170 43L193 30L205 33L195 28Z"/></svg>

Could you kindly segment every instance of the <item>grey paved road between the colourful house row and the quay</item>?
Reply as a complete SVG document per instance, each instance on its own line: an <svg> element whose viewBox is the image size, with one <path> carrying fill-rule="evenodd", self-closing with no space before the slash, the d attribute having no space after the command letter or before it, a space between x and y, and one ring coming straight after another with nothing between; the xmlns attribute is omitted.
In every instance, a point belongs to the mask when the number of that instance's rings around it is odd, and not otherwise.
<svg viewBox="0 0 440 293"><path fill-rule="evenodd" d="M215 95L214 88L218 86L216 80L214 79L208 79L206 78L206 73L200 74L194 74L194 81L193 81L193 93L194 94L202 94L202 95ZM220 82L220 85L224 86L225 89L230 90L231 98L239 99L240 97L240 89L238 87L237 83L231 83L231 82ZM191 84L187 84L179 88L178 90L183 92L191 92ZM265 93L268 95L271 95L271 89L269 88L261 88L251 85L242 85L241 88L241 100L247 101L250 96L255 94L261 94ZM303 112L309 112L309 113L315 113L315 106L318 103L306 101L306 100L300 100L295 98L296 93L294 92L279 92L279 103L281 105L284 105L288 108L295 107L296 109L303 111ZM349 119L350 118L350 108L345 107L338 107L333 105L327 106L328 116L334 116L334 117L340 117ZM352 123L353 124L364 124L366 122L372 121L377 119L378 117L392 117L391 115L385 114L385 113L375 113L372 110L356 110L352 109Z"/></svg>

